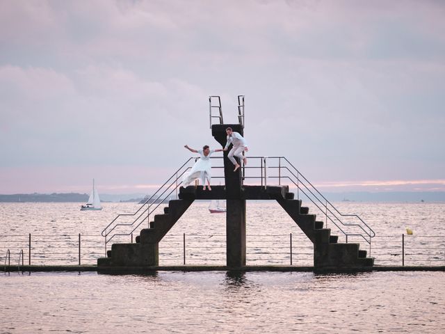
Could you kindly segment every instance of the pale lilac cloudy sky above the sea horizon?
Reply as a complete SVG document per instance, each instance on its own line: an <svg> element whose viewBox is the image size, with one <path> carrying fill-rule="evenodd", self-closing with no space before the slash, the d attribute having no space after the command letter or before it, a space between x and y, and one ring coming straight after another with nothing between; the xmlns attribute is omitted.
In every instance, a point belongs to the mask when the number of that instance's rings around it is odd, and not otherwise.
<svg viewBox="0 0 445 334"><path fill-rule="evenodd" d="M0 193L152 193L219 148L324 191L445 191L445 2L0 0ZM253 164L253 159L252 159Z"/></svg>

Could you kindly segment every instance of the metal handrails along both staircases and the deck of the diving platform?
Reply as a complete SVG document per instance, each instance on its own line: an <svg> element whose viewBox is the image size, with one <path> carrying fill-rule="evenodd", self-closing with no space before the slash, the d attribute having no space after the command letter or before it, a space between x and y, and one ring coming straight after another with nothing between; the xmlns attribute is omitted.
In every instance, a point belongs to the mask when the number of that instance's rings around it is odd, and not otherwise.
<svg viewBox="0 0 445 334"><path fill-rule="evenodd" d="M107 244L113 238L117 236L129 236L132 235L144 221L147 222L149 227L149 217L154 213L156 209L163 203L170 199L172 193L175 192L177 198L177 191L181 186L181 177L188 169L191 168L191 163L195 162L197 157L189 158L178 170L173 173L170 178L145 202L139 207L139 209L133 214L119 214L116 218L109 223L104 230L102 230L102 237L105 238L105 254L107 250ZM214 159L223 159L223 157L211 157ZM348 237L359 237L364 239L371 250L371 238L375 237L375 232L367 225L362 218L357 214L342 214L339 210L328 201L316 187L307 180L307 178L295 168L286 157L248 157L250 163L248 166L243 166L243 183L252 179L260 179L261 186L267 187L268 180L277 180L278 185L282 185L283 182L288 181L291 186L297 188L297 198L300 199L300 192L306 196L310 202L323 214L325 217L325 224L330 222L335 225L339 232L343 233L348 242ZM252 161L260 161L257 166L252 166ZM270 164L269 161L275 161L275 164ZM253 164L254 165L254 164ZM212 169L223 169L222 165L213 166ZM258 173L258 170L259 173ZM273 173L275 172L275 174ZM213 178L224 178L224 176L217 176ZM122 222L124 218L131 218L130 221ZM346 218L353 219L355 222L350 223L344 221ZM127 227L129 230L126 232L117 231L117 228ZM346 229L355 229L358 232L346 231Z"/></svg>

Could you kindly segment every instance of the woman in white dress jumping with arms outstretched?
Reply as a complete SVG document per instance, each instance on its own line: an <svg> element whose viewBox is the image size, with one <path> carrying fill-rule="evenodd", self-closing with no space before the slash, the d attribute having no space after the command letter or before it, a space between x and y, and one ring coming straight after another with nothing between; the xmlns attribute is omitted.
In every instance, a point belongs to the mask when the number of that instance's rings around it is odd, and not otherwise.
<svg viewBox="0 0 445 334"><path fill-rule="evenodd" d="M223 150L210 150L208 145L205 145L202 150L194 150L193 148L189 148L188 145L184 145L184 148L187 150L200 154L200 159L195 162L192 169L184 175L184 180L182 180L182 186L186 187L189 184L192 184L196 179L200 179L202 185L204 186L203 190L206 190L206 180L207 184L210 187L210 179L211 179L211 161L210 156L214 152L222 152Z"/></svg>

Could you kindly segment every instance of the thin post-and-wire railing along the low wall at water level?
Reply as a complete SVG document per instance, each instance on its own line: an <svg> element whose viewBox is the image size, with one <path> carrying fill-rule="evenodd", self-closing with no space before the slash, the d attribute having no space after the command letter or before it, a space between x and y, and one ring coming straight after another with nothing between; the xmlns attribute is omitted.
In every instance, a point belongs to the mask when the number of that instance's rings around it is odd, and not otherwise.
<svg viewBox="0 0 445 334"><path fill-rule="evenodd" d="M82 251L82 264L96 264L103 256L100 234L82 234L82 248L77 244L79 234L38 235L33 234L32 259L29 265L74 265L79 262ZM0 235L0 239L4 239ZM10 245L19 244L24 236L9 239ZM167 234L159 243L161 265L178 264L220 264L226 261L226 235L201 234L197 232ZM27 246L27 245L26 245ZM31 249L30 247L30 249ZM11 269L10 247L0 247L0 257L5 271ZM14 252L13 252L14 253ZM24 256L19 252L19 267L24 265ZM368 256L371 256L368 254ZM376 266L445 266L445 235L378 235L373 241L372 257ZM79 257L80 258L80 257ZM20 265L20 259L22 259ZM280 264L291 266L312 266L314 245L298 230L291 228L288 233L247 234L246 260L249 265ZM79 262L80 263L80 262ZM17 269L17 264L13 264Z"/></svg>

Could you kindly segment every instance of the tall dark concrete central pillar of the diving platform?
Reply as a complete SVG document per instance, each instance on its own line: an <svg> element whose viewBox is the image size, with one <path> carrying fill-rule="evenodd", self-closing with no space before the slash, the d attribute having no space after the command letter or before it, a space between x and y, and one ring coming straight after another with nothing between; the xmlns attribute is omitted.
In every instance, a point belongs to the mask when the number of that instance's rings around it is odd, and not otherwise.
<svg viewBox="0 0 445 334"><path fill-rule="evenodd" d="M243 136L243 127L239 124L212 125L212 135L223 147L227 140L225 132L227 127L232 127L234 132ZM235 166L227 158L229 150L224 152L224 176L227 196L227 267L243 267L245 266L245 200L241 199L241 168L234 172Z"/></svg>

